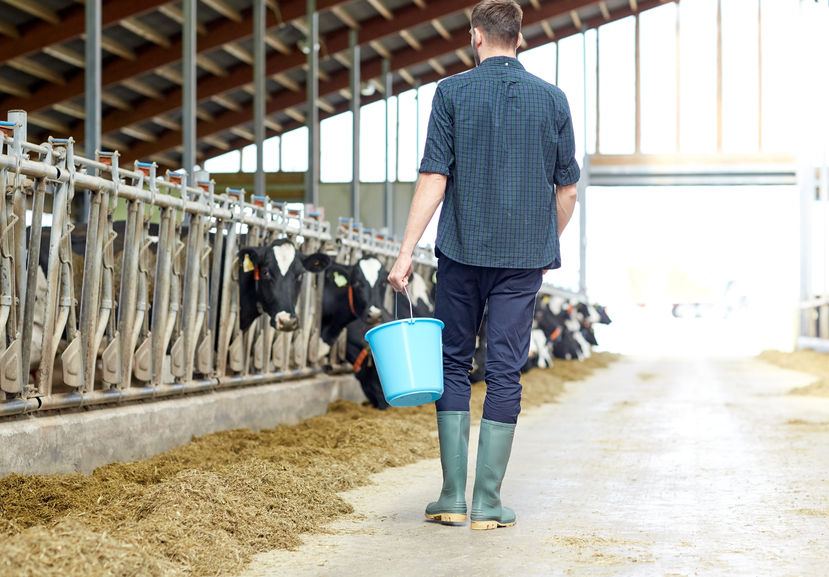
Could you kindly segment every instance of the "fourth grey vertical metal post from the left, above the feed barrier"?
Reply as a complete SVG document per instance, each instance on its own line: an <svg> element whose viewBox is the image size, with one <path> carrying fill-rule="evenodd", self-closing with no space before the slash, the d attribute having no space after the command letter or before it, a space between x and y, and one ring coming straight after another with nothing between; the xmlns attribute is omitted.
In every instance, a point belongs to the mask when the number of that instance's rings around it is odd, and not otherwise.
<svg viewBox="0 0 829 577"><path fill-rule="evenodd" d="M308 79L306 96L308 112L305 122L308 125L308 175L305 179L305 202L319 204L320 180L320 115L319 106L319 14L316 0L308 0Z"/></svg>

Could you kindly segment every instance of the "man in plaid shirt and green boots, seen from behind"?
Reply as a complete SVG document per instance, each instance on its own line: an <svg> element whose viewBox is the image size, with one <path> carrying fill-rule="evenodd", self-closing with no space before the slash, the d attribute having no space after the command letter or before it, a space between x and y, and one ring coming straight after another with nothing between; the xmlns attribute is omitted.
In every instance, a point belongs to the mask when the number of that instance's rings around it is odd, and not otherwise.
<svg viewBox="0 0 829 577"><path fill-rule="evenodd" d="M487 393L472 495L472 529L515 524L501 483L521 410L533 307L546 269L561 266L558 237L573 214L579 167L564 93L515 57L521 7L483 0L472 11L475 69L438 85L420 181L389 274L401 291L412 252L443 202L435 316L443 331L444 394L437 401L443 489L427 519L466 521L469 369L484 307Z"/></svg>

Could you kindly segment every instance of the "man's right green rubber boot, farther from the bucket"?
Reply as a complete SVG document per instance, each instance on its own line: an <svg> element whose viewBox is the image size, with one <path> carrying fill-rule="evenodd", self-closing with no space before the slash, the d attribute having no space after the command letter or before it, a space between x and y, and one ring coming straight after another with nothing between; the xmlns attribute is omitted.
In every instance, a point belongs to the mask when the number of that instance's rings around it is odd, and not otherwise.
<svg viewBox="0 0 829 577"><path fill-rule="evenodd" d="M481 419L472 491L472 529L483 531L515 525L515 512L501 505L501 483L507 472L514 435L515 425Z"/></svg>

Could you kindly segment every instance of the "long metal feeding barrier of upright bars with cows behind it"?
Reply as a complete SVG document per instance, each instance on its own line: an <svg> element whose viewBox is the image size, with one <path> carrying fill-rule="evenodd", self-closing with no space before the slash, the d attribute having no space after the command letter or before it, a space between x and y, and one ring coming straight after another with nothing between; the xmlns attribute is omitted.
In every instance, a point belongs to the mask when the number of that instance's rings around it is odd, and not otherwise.
<svg viewBox="0 0 829 577"><path fill-rule="evenodd" d="M76 156L71 138L29 143L22 111L0 122L0 417L317 374L324 276L303 275L298 330L260 315L242 331L239 249L288 238L305 254L374 256L387 269L400 250L350 219L334 235L316 209L217 193L206 172L194 183L156 172L120 166L117 152ZM79 222L76 193L89 195ZM433 249L413 261L433 283ZM325 369L350 368L345 348L343 331Z"/></svg>

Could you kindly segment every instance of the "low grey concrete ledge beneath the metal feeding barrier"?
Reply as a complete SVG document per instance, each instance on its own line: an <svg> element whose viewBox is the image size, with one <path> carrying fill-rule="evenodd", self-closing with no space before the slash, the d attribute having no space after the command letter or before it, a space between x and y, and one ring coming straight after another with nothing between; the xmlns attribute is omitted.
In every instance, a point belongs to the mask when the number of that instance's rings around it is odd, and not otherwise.
<svg viewBox="0 0 829 577"><path fill-rule="evenodd" d="M194 436L298 423L338 399L365 400L351 375L0 423L0 475L89 472L156 455Z"/></svg>

